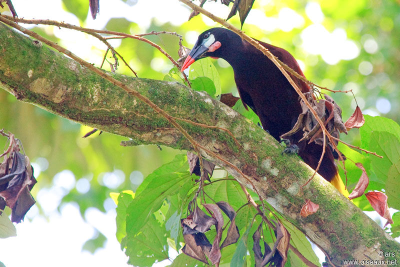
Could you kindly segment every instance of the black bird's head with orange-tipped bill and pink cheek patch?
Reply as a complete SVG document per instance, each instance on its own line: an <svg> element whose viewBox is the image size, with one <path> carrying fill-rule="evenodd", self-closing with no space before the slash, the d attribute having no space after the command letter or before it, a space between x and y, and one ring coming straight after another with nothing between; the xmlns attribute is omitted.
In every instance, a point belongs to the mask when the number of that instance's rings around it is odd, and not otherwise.
<svg viewBox="0 0 400 267"><path fill-rule="evenodd" d="M229 35L229 33L232 32L224 28L210 28L201 33L186 60L184 60L180 71L185 70L197 59L207 56L220 57L220 51L224 48L220 47L224 45L226 35Z"/></svg>

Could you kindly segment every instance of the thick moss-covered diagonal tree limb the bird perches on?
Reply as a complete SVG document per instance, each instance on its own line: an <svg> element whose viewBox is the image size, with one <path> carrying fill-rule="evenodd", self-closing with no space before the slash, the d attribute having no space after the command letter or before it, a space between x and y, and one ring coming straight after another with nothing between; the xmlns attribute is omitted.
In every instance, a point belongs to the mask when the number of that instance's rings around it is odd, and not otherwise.
<svg viewBox="0 0 400 267"><path fill-rule="evenodd" d="M203 92L176 83L112 74L138 90L172 116L226 128L239 142L217 128L177 120L203 147L209 161L224 167L304 232L335 265L343 259L397 259L400 244L321 176L303 190L313 170L264 130ZM193 150L165 118L121 88L0 24L0 87L20 101L103 131L132 138L130 144L162 144ZM240 169L244 178L231 164ZM300 216L305 199L319 204L316 213ZM381 257L379 251L394 252ZM387 263L386 263L387 264Z"/></svg>

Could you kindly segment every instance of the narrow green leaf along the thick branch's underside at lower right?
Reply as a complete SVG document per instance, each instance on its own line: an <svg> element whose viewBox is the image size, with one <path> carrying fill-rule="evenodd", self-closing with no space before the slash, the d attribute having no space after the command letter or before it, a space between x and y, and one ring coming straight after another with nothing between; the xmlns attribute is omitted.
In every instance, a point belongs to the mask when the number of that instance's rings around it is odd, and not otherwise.
<svg viewBox="0 0 400 267"><path fill-rule="evenodd" d="M302 233L301 231L299 231L293 224L291 224L290 222L286 221L286 220L282 220L282 224L286 227L286 229L289 231L290 233L290 243L297 248L297 250L309 261L311 261L312 263L316 264L316 265L320 265L319 264L319 259L316 256L314 250L312 250L311 244L310 242L307 240L307 238L305 238L304 233ZM293 255L291 255L291 258L297 258L296 262L302 262L296 254L293 253ZM292 261L290 261L292 262ZM292 266L299 266L299 265L295 265L291 264Z"/></svg>

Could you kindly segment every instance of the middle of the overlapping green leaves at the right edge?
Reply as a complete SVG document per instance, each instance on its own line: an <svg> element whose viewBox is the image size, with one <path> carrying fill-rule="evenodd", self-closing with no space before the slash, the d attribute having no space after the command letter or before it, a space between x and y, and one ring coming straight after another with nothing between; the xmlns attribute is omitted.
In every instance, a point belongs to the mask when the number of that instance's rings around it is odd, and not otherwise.
<svg viewBox="0 0 400 267"><path fill-rule="evenodd" d="M386 182L387 173L391 165L400 158L400 141L392 133L387 131L372 131L369 141L370 150L383 156L369 154L372 170L381 182Z"/></svg>

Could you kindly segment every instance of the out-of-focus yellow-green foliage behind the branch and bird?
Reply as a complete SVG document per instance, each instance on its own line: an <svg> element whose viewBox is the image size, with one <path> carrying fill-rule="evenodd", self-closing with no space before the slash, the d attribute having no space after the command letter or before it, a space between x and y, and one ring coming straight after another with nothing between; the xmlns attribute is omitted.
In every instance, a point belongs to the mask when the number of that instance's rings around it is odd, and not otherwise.
<svg viewBox="0 0 400 267"><path fill-rule="evenodd" d="M87 22L85 21L86 19L91 19L90 16L87 16L87 0L64 0L62 2L63 8L75 14L82 25L85 25ZM323 12L323 19L320 21L320 24L329 32L333 32L335 29L343 29L346 38L352 40L358 47L358 56L351 60L340 60L337 64L330 65L322 59L320 54L312 54L304 49L302 46L304 39L302 39L301 34L308 26L315 24L313 22L314 17L312 15L309 16L306 12L307 6L310 4L310 2L306 0L255 1L253 10L250 11L246 20L247 22L244 23L242 30L254 38L288 50L296 59L304 63L304 74L313 82L336 90L352 88L362 110L369 110L369 112L372 113L382 114L379 113L379 109L377 108L377 100L379 98L387 99L391 108L384 115L398 123L400 121L400 75L398 75L398 70L400 69L400 42L398 41L398 36L400 36L400 5L398 2L390 0L319 0L314 1L314 3L315 2L319 4ZM212 3L206 3L204 7L207 8L208 4ZM222 5L220 5L220 8L223 8ZM265 21L268 20L260 20L259 25L252 24L252 21L254 21L251 20L252 16L255 17L255 15L261 13L269 18L278 18L282 8L290 8L295 11L295 13L302 17L303 23L292 27L292 29L288 31L281 30L279 24L266 25L265 23L267 22ZM227 16L229 8L225 10L226 13L224 16ZM151 12L151 10L141 11L149 13L149 15ZM106 12L107 7L100 5L99 16ZM168 12L171 12L171 15L173 15L173 10L169 10ZM189 13L190 10L187 10L187 14L184 15L188 17ZM149 26L144 29L143 25L139 25L135 22L134 17L120 17L118 14L111 15L111 17L112 18L105 23L105 29L128 33L143 33L153 30L176 31L183 35L183 44L189 48L193 45L193 41L195 41L191 36L196 36L196 34L209 27L219 26L216 23L212 24L209 19L203 19L201 15L178 26L169 22L161 24L154 17ZM278 21L278 19L274 20L274 23L278 23ZM238 15L232 17L229 22L240 27ZM268 26L270 26L270 29L268 29ZM35 26L33 30L51 40L59 41L61 44L63 43L63 40L60 40L54 35L54 30L52 30L51 27ZM178 58L178 38L176 36L159 34L149 35L146 36L146 38L159 44L173 58ZM312 36L310 41L318 42L319 38L320 36L315 35ZM190 43L188 43L186 39L189 39ZM118 42L116 43L118 44ZM370 47L370 45L373 46L374 44L376 44L375 50L372 49L373 47ZM129 65L137 71L139 77L164 79L165 75L173 66L158 50L138 40L122 39L118 45L115 45L115 48L123 55ZM104 46L96 47L93 50L93 55L86 55L86 59L99 63L101 62L104 50ZM107 59L111 62L113 61L112 58L109 58L109 54L107 55ZM219 74L220 80L220 85L219 83L215 84L215 94L219 94L219 88L222 93L233 92L235 94L236 88L232 69L223 59L212 59L210 62L211 61L215 66L217 74ZM369 74L362 74L363 71L360 71L362 70L361 66L363 62L369 62L372 65L372 70ZM109 70L107 64L104 65L104 68ZM121 61L117 72L132 75L130 70L121 63ZM175 73L175 75L177 74ZM214 79L212 80L215 82ZM206 82L208 82L208 80L198 80L196 84L198 88L200 88ZM345 120L351 115L355 107L352 95L350 93L330 94L341 106L343 119ZM276 97L279 99L283 98L284 95L277 95ZM236 104L235 109L244 111L243 106L240 106L240 102ZM33 196L35 196L40 189L52 186L54 175L63 169L71 170L76 181L85 179L89 182L90 189L88 191L83 192L84 190L82 189L78 190L79 186L75 186L62 198L62 202L77 202L82 216L88 207L96 207L104 211L104 206L106 206L104 203L106 199L109 198L110 192L119 192L125 189L135 191L139 186L141 177L146 177L155 168L165 162L169 162L176 154L182 153L182 151L176 151L163 146L161 147L162 150L160 150L155 145L122 147L119 146L119 142L126 138L108 133L103 133L100 136L93 134L83 139L81 136L89 131L90 128L60 118L33 105L21 103L5 91L0 91L0 114L0 127L11 131L21 140L24 151L31 159L31 162L36 163L36 173L37 170L40 169L40 174L36 177L38 183L32 190ZM253 122L257 121L254 114L250 113L248 117L253 120ZM388 129L382 129L381 131L390 132ZM370 134L370 131L367 130L366 134ZM375 135L376 138L380 138L377 134L378 133L370 134L370 138ZM398 135L396 136L398 137ZM345 141L355 145L362 144L366 149L372 148L369 145L369 139L367 139L367 146L365 146L365 143L363 143L362 139L359 137L359 131L357 129L352 129L347 136L341 137ZM4 147L5 142L6 140L4 138L0 138L0 145ZM362 162L367 171L370 171L368 173L371 179L370 186L373 186L373 188L378 188L379 186L380 188L385 188L385 180L381 179L376 171L376 165L374 164L374 161L377 159L372 158L370 155L367 156L364 153L358 153L344 145L340 145L339 148L347 157L355 162ZM43 158L48 162L48 167L43 164ZM397 162L394 161L393 159L393 161L389 162L390 165L387 165L388 172L386 172L386 177L389 175L387 179L392 177L394 175L393 173L395 173L394 169L391 169L391 171L389 170L393 164L398 165L398 160ZM351 163L346 164L346 168L348 171L348 184L351 188L355 185L361 171ZM118 172L118 170L122 172ZM115 171L122 177L120 179L121 182L115 183L115 186L110 186L104 179L107 173L109 174ZM344 173L341 173L341 175L344 176ZM108 185L108 187L106 185ZM226 183L226 186L228 186L228 183ZM213 186L213 189L216 190L216 188L217 186ZM121 195L119 198L120 197ZM229 197L228 193L226 197ZM129 199L132 198L133 196L131 194L126 193L125 201L123 202L125 205L124 210L126 210L129 205ZM370 209L366 199L357 199L354 202L361 208ZM176 199L169 199L164 202L164 204L169 206L172 206L173 203L176 203ZM398 202L394 202L394 204L396 204L398 208ZM120 205L121 204L118 204L118 208L121 209ZM239 206L239 204L236 205L234 203L232 205L235 205L236 208ZM38 206L40 208L40 203L38 203ZM242 212L245 213L246 216L253 215L250 210L243 210ZM168 213L166 220L168 220L171 215L172 213ZM175 214L175 217L177 217L176 215L177 214ZM398 217L398 212L396 216ZM162 224L163 227L165 227L164 224L167 224L166 221L160 222L157 220L153 214L151 214L148 219L158 225ZM117 219L117 226L124 226L123 219L119 221L119 223L120 224L118 224ZM249 225L247 225L244 220L242 222L238 221L237 223L241 223L240 233L243 234L245 230L248 229L247 227ZM123 226L121 226L122 224ZM118 229L120 229L119 226ZM396 224L396 229L398 229L398 223ZM157 230L159 230L159 228L157 228ZM250 235L251 232L253 232L253 229L250 231ZM119 232L118 240L120 240L124 234L124 232ZM250 235L248 238L249 243L252 242ZM141 237L139 236L137 238ZM298 238L300 239L300 237ZM179 239L176 237L175 241L178 240ZM104 238L101 235L93 237L93 239L86 243L84 248L92 251L96 245L102 245L103 241ZM167 240L163 239L163 245L165 245L166 242ZM131 244L133 245L133 243ZM241 244L240 239L239 244ZM248 245L251 246L251 244ZM161 248L165 249L163 246ZM164 254L162 254L160 258L165 256L165 250L163 252ZM236 250L235 253L240 254L240 251ZM294 262L295 259L293 255L289 254L289 258ZM182 260L182 255L179 255L177 259ZM178 260L175 260L173 264L178 266Z"/></svg>

